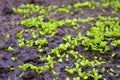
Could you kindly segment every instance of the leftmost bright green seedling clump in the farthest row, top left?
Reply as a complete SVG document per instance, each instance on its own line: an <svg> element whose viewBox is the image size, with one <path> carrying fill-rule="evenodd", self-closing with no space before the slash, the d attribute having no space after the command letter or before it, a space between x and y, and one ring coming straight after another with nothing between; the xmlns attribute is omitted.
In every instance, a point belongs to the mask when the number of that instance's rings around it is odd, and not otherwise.
<svg viewBox="0 0 120 80"><path fill-rule="evenodd" d="M19 14L23 14L24 17L28 17L31 14L47 14L47 8L45 6L38 6L33 4L21 4L17 8L13 8L13 11Z"/></svg>

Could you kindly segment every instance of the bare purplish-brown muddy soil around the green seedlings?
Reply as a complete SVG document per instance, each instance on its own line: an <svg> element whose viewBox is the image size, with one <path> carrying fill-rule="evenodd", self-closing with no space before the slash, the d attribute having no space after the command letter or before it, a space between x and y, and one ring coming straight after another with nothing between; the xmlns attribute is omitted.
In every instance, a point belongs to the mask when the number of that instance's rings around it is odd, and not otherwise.
<svg viewBox="0 0 120 80"><path fill-rule="evenodd" d="M34 47L31 49L25 48L20 49L18 47L17 38L15 37L15 34L22 30L22 26L20 25L10 25L10 22L18 22L22 20L21 15L16 14L13 12L12 8L17 7L20 4L23 3L33 3L33 4L39 4L39 5L67 5L67 4L73 4L76 1L86 1L86 0L0 0L0 80L52 80L54 76L51 74L51 72L45 72L43 74L36 74L33 71L27 71L24 73L22 78L19 78L19 75L21 73L21 70L19 70L18 66L23 63L33 63L33 64L39 64L41 63L39 61L39 57L36 57L36 50ZM117 16L120 17L120 13L112 14L110 13L111 8L107 9L105 13L103 13L102 9L95 9L95 11L91 11L88 8L84 8L84 14L81 14L80 12L75 12L73 15L66 15L66 14L57 14L55 15L55 18L57 20L64 19L64 18L77 18L77 17L97 17L98 15L102 16ZM94 23L94 22L93 22ZM90 24L80 24L82 27L80 29L75 30L70 27L62 27L57 29L57 34L49 39L49 47L55 48L59 44L63 43L62 37L65 34L70 34L72 36L76 36L78 32L81 32L83 35L85 35L86 31L90 29ZM87 27L84 27L87 26ZM6 35L10 34L11 38L6 39ZM8 46L12 46L15 48L14 52L7 52L5 49ZM85 53L84 55L86 57L92 57L95 56L91 51L84 51L83 47L80 46L77 48L80 53ZM120 64L120 50L118 48L114 48L111 50L111 52L115 52L117 55L113 59L109 59L109 56L107 55L99 55L102 58L106 59L108 61L108 65L105 66L106 69L108 68L114 68L116 73L119 73L119 77L111 77L107 73L104 74L107 80L120 80L120 70L118 70L116 67L117 64ZM28 54L29 53L29 54ZM92 54L91 54L92 53ZM17 62L14 62L11 60L11 56L18 56L19 60ZM72 61L71 61L72 63ZM69 64L71 64L69 63ZM59 72L59 79L65 80L66 75L63 71L63 68L68 65L68 63L58 63L56 65L56 70ZM14 67L14 71L10 71L9 67Z"/></svg>

